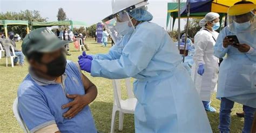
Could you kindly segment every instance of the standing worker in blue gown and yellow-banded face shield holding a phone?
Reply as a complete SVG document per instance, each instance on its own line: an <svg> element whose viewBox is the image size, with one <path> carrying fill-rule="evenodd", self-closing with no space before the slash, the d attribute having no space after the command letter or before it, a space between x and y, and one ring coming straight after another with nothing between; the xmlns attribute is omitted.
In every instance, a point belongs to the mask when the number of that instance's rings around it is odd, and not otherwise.
<svg viewBox="0 0 256 133"><path fill-rule="evenodd" d="M220 64L217 90L217 98L221 99L220 132L230 132L230 113L234 102L244 105L242 132L251 132L256 108L255 9L256 5L252 2L239 2L231 6L227 26L220 32L214 47L215 56L225 57ZM230 35L237 36L238 40Z"/></svg>

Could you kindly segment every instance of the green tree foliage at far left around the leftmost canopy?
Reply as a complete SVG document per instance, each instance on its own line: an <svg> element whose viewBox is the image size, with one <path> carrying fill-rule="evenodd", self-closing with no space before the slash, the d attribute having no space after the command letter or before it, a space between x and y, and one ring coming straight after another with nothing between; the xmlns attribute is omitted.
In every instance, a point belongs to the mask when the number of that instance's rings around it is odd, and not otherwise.
<svg viewBox="0 0 256 133"><path fill-rule="evenodd" d="M43 18L39 11L33 10L25 10L21 12L6 12L0 13L0 20L28 20L29 24L32 21L46 21L48 18ZM31 29L31 25L30 29ZM8 31L12 31L15 34L19 34L22 38L26 35L26 26L21 25L10 25L8 26Z"/></svg>

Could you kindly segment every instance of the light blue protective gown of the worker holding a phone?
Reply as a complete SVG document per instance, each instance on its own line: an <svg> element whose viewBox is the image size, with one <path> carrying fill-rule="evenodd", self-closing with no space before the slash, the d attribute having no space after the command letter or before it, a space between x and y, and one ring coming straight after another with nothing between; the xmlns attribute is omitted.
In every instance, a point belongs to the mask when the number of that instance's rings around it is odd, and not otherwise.
<svg viewBox="0 0 256 133"><path fill-rule="evenodd" d="M253 53L241 53L237 48L223 48L227 35L237 35L239 42L254 48ZM256 31L231 33L225 27L217 39L214 55L222 58L219 69L217 98L227 98L239 104L256 108Z"/></svg>

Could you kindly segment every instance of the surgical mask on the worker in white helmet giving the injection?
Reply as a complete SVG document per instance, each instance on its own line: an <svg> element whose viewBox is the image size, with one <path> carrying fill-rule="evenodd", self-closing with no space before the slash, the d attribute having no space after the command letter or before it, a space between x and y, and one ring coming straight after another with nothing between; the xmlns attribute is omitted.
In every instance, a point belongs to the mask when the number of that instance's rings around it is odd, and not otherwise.
<svg viewBox="0 0 256 133"><path fill-rule="evenodd" d="M117 22L116 29L121 35L131 34L134 29L129 26L130 21Z"/></svg>

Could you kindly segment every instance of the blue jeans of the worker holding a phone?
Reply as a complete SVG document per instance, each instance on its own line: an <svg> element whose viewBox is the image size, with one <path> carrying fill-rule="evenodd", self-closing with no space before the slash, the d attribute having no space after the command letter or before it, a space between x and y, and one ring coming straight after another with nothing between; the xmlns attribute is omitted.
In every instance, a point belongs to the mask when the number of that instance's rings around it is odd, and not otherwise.
<svg viewBox="0 0 256 133"><path fill-rule="evenodd" d="M219 130L223 133L230 132L230 113L231 109L234 107L234 101L228 100L226 98L221 98L220 104L220 124ZM245 106L242 108L245 112L245 122L244 128L242 129L242 133L251 132L252 122L254 118L254 113L256 108L252 108L249 106Z"/></svg>

